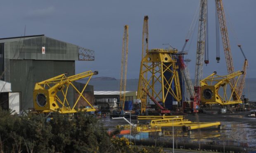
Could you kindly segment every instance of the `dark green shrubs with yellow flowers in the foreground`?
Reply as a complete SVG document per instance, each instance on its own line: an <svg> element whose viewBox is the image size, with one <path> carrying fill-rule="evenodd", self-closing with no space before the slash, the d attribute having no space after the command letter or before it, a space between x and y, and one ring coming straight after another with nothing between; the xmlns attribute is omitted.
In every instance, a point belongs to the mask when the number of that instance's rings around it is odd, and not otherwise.
<svg viewBox="0 0 256 153"><path fill-rule="evenodd" d="M52 113L11 115L0 109L0 151L3 153L153 153L158 148L130 146L126 138L113 138L95 117L84 112L69 115Z"/></svg>

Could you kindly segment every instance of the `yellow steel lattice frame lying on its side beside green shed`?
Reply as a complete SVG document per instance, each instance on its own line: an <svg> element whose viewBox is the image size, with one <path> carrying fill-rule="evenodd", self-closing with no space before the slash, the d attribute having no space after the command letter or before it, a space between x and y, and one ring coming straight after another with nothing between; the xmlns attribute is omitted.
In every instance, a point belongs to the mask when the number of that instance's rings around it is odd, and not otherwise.
<svg viewBox="0 0 256 153"><path fill-rule="evenodd" d="M83 92L88 85L92 75L98 74L97 71L87 71L80 74L67 77L66 74L55 76L51 79L36 83L33 90L34 109L39 113L59 112L62 114L76 113L77 111L95 111L93 106L83 96ZM83 90L80 92L74 85L73 81L88 78ZM67 100L68 89L71 86L79 94L77 100L71 107ZM89 104L89 108L76 109L76 104L80 99Z"/></svg>

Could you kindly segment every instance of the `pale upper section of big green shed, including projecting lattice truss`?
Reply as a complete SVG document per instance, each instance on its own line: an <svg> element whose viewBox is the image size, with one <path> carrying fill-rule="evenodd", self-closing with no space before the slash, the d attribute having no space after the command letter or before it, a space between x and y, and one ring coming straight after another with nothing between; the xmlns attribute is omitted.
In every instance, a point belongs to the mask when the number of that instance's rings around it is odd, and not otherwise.
<svg viewBox="0 0 256 153"><path fill-rule="evenodd" d="M0 38L2 43L11 60L94 60L94 51L45 35Z"/></svg>

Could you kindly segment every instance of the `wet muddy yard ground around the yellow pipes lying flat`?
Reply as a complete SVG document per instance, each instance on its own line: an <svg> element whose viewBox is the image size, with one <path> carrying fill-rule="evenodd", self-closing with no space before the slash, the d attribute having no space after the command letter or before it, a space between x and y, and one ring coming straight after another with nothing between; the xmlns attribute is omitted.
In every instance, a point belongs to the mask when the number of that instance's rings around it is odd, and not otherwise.
<svg viewBox="0 0 256 153"><path fill-rule="evenodd" d="M255 111L255 110L254 110ZM225 143L226 145L248 145L256 147L256 118L249 118L250 112L240 112L236 114L188 114L184 117L194 122L220 122L222 130L218 127L208 127L189 132L183 132L176 127L174 136L179 141L201 141L205 143ZM130 120L130 118L127 118ZM132 123L138 121L132 119ZM141 124L149 124L150 121L139 121ZM124 119L110 119L109 116L102 118L102 123L109 130L113 130L116 125L127 125ZM172 127L162 128L160 139L172 139ZM149 133L150 136L153 135Z"/></svg>

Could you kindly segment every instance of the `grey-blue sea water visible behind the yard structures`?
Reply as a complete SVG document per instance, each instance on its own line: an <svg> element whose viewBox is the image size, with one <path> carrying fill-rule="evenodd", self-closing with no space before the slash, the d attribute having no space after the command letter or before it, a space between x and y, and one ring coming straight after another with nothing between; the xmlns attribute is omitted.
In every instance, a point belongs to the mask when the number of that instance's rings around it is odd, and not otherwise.
<svg viewBox="0 0 256 153"><path fill-rule="evenodd" d="M128 79L126 83L127 84L126 91L137 91L138 81L139 79ZM119 91L119 80L113 80L113 81L91 80L89 84L94 86L95 91ZM160 87L158 88L160 89ZM243 95L249 98L250 101L256 101L256 78L246 79Z"/></svg>

